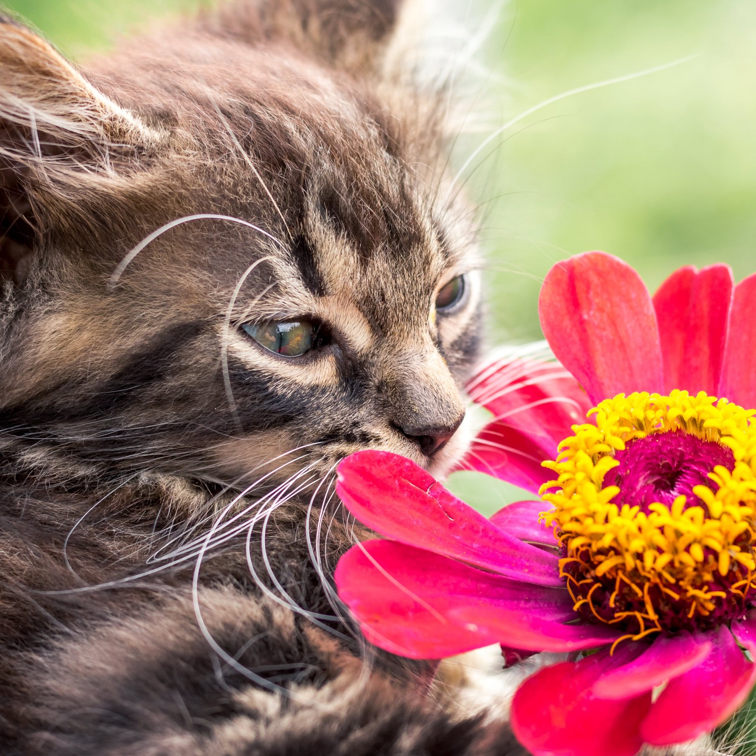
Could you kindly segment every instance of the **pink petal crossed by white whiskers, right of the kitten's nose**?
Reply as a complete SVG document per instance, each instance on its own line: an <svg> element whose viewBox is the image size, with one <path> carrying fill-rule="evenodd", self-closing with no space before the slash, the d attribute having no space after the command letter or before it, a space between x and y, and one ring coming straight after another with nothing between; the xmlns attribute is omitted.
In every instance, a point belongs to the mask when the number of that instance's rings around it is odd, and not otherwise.
<svg viewBox="0 0 756 756"><path fill-rule="evenodd" d="M575 423L585 422L591 407L575 378L553 361L497 361L483 367L466 388L472 401L494 414L491 427L519 430L544 450L545 459L556 457L559 442L572 435Z"/></svg>

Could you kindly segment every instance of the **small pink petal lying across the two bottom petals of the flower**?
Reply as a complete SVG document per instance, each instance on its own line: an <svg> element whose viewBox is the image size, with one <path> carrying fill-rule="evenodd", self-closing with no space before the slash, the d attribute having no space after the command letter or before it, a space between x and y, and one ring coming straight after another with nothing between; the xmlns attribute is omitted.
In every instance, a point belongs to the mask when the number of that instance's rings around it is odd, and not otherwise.
<svg viewBox="0 0 756 756"><path fill-rule="evenodd" d="M655 638L638 658L599 678L593 694L600 699L632 698L699 665L711 643L689 633Z"/></svg>

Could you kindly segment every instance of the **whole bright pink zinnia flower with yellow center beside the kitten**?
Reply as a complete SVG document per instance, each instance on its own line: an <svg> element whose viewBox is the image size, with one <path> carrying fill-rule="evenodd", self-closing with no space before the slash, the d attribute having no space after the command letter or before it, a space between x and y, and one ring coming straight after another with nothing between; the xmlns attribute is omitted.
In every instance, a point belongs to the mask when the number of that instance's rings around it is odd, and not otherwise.
<svg viewBox="0 0 756 756"><path fill-rule="evenodd" d="M403 457L352 455L339 497L386 539L336 584L401 655L571 652L516 692L516 736L633 756L713 729L756 682L756 275L681 268L652 299L587 253L552 268L539 309L561 365L472 380L495 417L467 463L547 503L488 520Z"/></svg>

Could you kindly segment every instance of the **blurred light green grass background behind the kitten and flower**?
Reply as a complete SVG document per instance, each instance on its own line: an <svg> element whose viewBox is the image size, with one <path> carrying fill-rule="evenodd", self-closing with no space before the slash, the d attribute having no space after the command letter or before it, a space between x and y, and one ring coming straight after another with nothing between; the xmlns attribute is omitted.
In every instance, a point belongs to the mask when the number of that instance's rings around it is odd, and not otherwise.
<svg viewBox="0 0 756 756"><path fill-rule="evenodd" d="M200 2L5 5L83 60ZM485 0L445 2L457 17L463 8L473 30L487 10ZM484 218L492 340L540 338L544 274L586 249L631 262L652 289L690 263L727 262L738 278L756 271L754 0L511 0L489 26L477 54L487 73L460 78L476 115L457 141L457 166L485 138L482 122L493 129L572 88L693 56L545 107L472 163L467 187ZM451 485L487 514L522 497L474 474ZM756 718L750 709L741 717L739 730Z"/></svg>

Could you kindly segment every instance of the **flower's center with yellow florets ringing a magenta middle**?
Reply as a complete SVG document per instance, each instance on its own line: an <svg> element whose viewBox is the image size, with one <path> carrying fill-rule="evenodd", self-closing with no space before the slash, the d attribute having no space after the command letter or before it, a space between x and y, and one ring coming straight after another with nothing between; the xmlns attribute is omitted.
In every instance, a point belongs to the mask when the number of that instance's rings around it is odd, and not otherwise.
<svg viewBox="0 0 756 756"><path fill-rule="evenodd" d="M741 616L756 578L756 411L700 392L602 401L544 485L575 610L634 638Z"/></svg>

